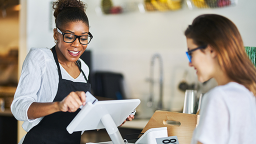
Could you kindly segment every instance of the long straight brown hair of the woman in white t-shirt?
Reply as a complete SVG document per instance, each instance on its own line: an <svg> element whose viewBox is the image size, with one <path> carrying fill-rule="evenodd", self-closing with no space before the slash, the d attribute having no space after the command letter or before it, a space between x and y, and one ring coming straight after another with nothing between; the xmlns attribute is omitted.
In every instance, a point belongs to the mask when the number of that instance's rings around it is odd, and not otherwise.
<svg viewBox="0 0 256 144"><path fill-rule="evenodd" d="M245 53L235 24L217 14L197 16L185 30L185 36L196 45L210 45L217 52L219 65L229 78L244 85L256 95L256 69Z"/></svg>

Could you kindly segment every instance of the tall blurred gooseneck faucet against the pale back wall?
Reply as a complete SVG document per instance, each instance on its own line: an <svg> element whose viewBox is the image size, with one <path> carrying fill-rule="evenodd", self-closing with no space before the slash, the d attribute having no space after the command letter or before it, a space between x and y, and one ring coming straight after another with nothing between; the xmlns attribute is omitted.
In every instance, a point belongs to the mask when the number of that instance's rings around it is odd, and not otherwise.
<svg viewBox="0 0 256 144"><path fill-rule="evenodd" d="M159 101L157 104L156 109L162 109L163 108L163 104L162 104L162 93L163 93L163 65L162 65L162 57L159 53L155 53L152 58L151 58L151 62L150 62L150 77L149 77L149 100L147 101L147 106L151 107L153 105L153 89L154 89L154 78L153 78L153 70L154 70L154 61L155 59L158 58L159 61Z"/></svg>

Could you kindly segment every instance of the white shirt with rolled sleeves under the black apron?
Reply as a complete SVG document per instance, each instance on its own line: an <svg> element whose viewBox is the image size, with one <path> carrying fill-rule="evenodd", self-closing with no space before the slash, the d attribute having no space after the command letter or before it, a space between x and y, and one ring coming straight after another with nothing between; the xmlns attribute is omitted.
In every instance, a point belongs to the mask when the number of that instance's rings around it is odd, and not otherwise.
<svg viewBox="0 0 256 144"><path fill-rule="evenodd" d="M88 79L89 68L81 60L81 69ZM62 79L86 82L80 72L77 78L70 76L60 65ZM22 127L29 131L43 117L28 119L27 110L32 102L52 102L58 88L58 71L49 48L31 48L23 62L22 71L11 103L11 112L17 120L24 121Z"/></svg>

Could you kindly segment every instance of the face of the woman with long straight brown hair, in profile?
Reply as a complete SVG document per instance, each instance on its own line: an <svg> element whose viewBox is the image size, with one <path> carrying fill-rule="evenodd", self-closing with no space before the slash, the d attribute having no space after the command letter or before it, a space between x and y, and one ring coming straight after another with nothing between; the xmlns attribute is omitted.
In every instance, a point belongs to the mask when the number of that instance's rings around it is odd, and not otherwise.
<svg viewBox="0 0 256 144"><path fill-rule="evenodd" d="M200 45L193 43L193 39L187 38L188 50L192 50L198 46ZM191 62L189 62L188 65L193 66L196 70L198 81L204 82L214 76L216 58L213 55L210 46L207 46L203 51L201 51L201 49L192 51L191 56Z"/></svg>

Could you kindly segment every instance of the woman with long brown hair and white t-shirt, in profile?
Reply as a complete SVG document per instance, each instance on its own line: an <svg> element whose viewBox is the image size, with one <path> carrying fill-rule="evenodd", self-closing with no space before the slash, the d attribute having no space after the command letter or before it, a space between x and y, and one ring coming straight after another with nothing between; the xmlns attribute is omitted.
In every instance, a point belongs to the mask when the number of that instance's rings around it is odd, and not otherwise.
<svg viewBox="0 0 256 144"><path fill-rule="evenodd" d="M198 80L215 78L205 93L191 143L256 143L256 69L238 29L226 17L204 14L185 30L189 66Z"/></svg>

